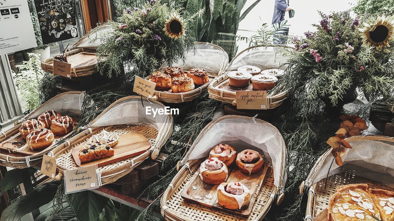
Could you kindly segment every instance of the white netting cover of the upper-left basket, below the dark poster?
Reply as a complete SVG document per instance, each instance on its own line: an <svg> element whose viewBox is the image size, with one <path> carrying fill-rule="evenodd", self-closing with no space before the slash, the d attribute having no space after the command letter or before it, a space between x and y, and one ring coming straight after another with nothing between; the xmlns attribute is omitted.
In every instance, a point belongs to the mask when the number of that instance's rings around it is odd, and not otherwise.
<svg viewBox="0 0 394 221"><path fill-rule="evenodd" d="M110 25L101 25L89 31L84 37L75 43L75 48L91 48L96 49L100 44L100 39L112 32L113 28ZM92 39L97 39L91 42Z"/></svg>

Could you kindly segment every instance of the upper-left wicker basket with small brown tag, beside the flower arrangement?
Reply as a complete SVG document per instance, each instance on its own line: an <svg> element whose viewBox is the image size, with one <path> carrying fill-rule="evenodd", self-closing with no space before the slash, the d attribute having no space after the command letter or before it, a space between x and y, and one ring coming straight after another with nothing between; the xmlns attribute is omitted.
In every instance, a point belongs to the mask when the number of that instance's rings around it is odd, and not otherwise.
<svg viewBox="0 0 394 221"><path fill-rule="evenodd" d="M97 72L96 48L98 44L97 42L91 44L90 39L92 36L98 35L98 30L106 30L108 27L110 26L103 24L92 29L64 54L68 62L71 63L71 77L84 77ZM41 68L46 72L53 73L53 59L54 57L50 57L41 61Z"/></svg>

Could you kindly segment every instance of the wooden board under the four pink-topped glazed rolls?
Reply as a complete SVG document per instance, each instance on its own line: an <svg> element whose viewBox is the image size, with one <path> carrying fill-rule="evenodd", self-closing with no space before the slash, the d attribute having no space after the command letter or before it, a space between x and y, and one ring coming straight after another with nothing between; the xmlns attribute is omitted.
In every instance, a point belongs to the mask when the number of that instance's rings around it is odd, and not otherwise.
<svg viewBox="0 0 394 221"><path fill-rule="evenodd" d="M255 174L247 175L240 171L235 163L229 166L229 176L225 182L240 182L247 186L250 190L251 198L248 204L243 206L240 210L229 210L219 205L217 202L217 187L219 185L207 184L199 177L199 171L197 171L190 182L186 185L186 188L180 193L181 197L185 200L193 203L199 203L209 208L216 208L232 214L247 217L251 214L253 204L256 201L256 196L260 191L260 187L264 181L268 169L268 163L264 162L263 168ZM194 188L193 188L194 187ZM211 199L207 199L205 196L211 195ZM197 198L202 199L197 199ZM209 197L208 197L209 198Z"/></svg>

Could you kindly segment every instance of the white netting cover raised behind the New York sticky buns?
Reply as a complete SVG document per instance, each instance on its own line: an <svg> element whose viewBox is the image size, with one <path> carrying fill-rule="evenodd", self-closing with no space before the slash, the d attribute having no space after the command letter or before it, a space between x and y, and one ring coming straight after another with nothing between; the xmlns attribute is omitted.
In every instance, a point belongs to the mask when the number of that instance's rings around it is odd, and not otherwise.
<svg viewBox="0 0 394 221"><path fill-rule="evenodd" d="M229 56L227 53L218 46L209 43L196 43L195 50L189 50L185 56L185 62L179 60L173 63L172 66L183 68L183 70L186 71L192 68L203 68L208 73L217 75L220 70L225 69L229 63ZM167 67L167 63L163 63L160 69Z"/></svg>

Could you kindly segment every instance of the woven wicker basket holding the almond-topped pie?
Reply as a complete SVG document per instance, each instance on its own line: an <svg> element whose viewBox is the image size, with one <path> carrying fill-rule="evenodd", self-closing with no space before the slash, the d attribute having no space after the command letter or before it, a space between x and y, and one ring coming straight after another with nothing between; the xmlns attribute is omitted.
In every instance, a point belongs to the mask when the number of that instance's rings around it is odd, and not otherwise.
<svg viewBox="0 0 394 221"><path fill-rule="evenodd" d="M386 136L353 136L350 138L346 138L349 144L355 140L376 140L381 142L389 142L392 145L392 151L394 151L394 138L386 137ZM367 146L365 148L368 148ZM308 179L303 182L300 186L300 192L304 190L305 187L310 185L309 192L308 192L308 202L307 202L307 211L305 213L304 221L313 221L316 217L325 209L327 209L329 200L331 196L335 193L335 189L339 186L347 185L347 184L359 184L359 183L366 183L371 188L378 188L378 189L386 189L386 190L394 190L393 188L384 186L379 182L374 180L366 179L361 177L357 174L357 171L353 170L351 172L343 172L331 175L327 179L322 179L319 182L314 184L312 180L315 178L316 173L320 171L322 168L323 162L331 156L331 148L327 150L316 162L314 165L311 175ZM335 163L334 163L335 164ZM363 170L362 167L359 169ZM326 210L325 210L326 211ZM321 220L327 220L324 216ZM316 219L317 220L317 219ZM320 219L319 219L320 220Z"/></svg>

